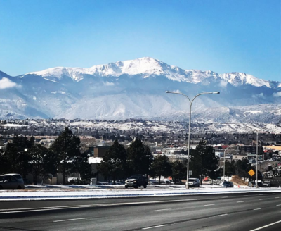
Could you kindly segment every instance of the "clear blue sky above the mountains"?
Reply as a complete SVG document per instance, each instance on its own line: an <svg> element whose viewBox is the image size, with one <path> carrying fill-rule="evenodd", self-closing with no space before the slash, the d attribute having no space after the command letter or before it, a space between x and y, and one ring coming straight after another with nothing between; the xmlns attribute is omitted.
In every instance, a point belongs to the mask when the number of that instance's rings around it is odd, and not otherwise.
<svg viewBox="0 0 281 231"><path fill-rule="evenodd" d="M280 0L0 0L0 70L150 56L281 81Z"/></svg>

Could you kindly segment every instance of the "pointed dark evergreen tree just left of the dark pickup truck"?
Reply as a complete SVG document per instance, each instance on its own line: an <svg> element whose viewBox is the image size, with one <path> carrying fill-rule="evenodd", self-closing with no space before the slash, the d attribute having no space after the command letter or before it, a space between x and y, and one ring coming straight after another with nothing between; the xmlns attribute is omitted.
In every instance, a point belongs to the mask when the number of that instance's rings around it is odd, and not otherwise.
<svg viewBox="0 0 281 231"><path fill-rule="evenodd" d="M126 170L126 149L116 139L103 156L103 161L98 164L98 171L105 177L111 177L114 184L117 177L124 176Z"/></svg>

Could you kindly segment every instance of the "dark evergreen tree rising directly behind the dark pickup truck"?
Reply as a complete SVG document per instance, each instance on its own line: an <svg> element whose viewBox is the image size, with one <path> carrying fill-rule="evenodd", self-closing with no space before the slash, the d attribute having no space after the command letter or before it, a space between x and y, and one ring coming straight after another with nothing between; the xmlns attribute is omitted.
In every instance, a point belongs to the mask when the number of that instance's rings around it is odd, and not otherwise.
<svg viewBox="0 0 281 231"><path fill-rule="evenodd" d="M153 160L149 146L145 146L141 139L136 138L127 149L127 154L129 173L148 175Z"/></svg>

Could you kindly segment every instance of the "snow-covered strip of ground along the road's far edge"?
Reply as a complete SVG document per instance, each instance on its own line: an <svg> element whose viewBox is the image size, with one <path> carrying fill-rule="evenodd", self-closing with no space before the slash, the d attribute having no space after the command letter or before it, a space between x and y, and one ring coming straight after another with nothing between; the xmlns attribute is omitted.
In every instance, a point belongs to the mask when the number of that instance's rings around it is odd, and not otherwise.
<svg viewBox="0 0 281 231"><path fill-rule="evenodd" d="M118 198L138 196L176 196L199 194L226 194L249 192L281 192L281 188L251 188L251 187L200 187L195 189L181 188L148 188L148 189L29 189L22 191L3 190L0 201L26 201L46 199L89 199L89 198Z"/></svg>

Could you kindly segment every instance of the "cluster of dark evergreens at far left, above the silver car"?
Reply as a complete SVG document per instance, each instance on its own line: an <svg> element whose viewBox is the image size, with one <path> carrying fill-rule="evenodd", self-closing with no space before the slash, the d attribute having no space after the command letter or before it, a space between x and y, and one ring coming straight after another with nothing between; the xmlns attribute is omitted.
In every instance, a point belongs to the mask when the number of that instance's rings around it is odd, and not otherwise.
<svg viewBox="0 0 281 231"><path fill-rule="evenodd" d="M80 173L81 178L90 180L91 165L88 154L81 153L80 139L65 127L57 139L47 149L41 144L35 144L34 137L14 135L12 142L8 142L6 149L0 149L0 174L20 173L22 177L33 175L34 184L37 177L61 173L63 185L67 182L67 175Z"/></svg>

